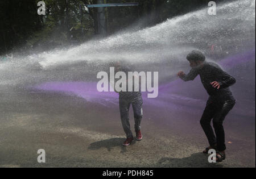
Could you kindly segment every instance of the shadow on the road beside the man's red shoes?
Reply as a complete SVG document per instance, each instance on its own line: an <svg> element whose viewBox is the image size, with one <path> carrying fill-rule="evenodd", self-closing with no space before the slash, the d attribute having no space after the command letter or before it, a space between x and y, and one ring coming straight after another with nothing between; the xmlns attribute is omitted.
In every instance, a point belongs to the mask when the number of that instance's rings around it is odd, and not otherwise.
<svg viewBox="0 0 256 179"><path fill-rule="evenodd" d="M108 151L111 151L114 147L120 147L121 153L126 152L126 147L122 145L123 141L125 141L125 138L112 138L112 139L106 139L101 141L96 141L88 147L90 150L97 150L100 148L107 148ZM131 143L133 145L135 142Z"/></svg>

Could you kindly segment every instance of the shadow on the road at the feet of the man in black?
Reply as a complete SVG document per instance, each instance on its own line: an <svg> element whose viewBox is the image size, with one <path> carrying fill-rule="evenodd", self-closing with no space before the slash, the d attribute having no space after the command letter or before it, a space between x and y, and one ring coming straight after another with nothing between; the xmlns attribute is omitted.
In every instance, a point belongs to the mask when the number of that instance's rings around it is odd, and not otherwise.
<svg viewBox="0 0 256 179"><path fill-rule="evenodd" d="M159 167L222 168L221 163L209 163L208 155L194 153L183 159L163 157L158 161Z"/></svg>

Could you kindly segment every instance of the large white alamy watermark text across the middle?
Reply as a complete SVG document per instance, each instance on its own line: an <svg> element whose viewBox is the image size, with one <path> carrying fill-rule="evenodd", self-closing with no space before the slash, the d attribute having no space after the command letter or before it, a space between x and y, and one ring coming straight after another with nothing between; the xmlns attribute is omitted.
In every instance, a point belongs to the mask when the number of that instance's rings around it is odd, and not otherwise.
<svg viewBox="0 0 256 179"><path fill-rule="evenodd" d="M125 72L115 73L115 68L110 67L109 74L107 72L99 72L97 79L101 79L97 84L99 92L148 91L148 98L158 97L158 72L128 72L127 76Z"/></svg>

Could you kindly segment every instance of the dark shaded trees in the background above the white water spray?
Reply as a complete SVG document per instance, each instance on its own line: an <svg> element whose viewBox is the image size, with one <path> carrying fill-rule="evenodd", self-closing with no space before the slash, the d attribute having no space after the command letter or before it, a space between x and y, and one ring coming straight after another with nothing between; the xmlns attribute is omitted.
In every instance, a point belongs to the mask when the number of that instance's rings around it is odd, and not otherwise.
<svg viewBox="0 0 256 179"><path fill-rule="evenodd" d="M90 9L89 14L84 9L84 5L97 0L44 0L46 15L37 14L38 2L0 1L0 55L33 49L44 51L97 37L97 9ZM209 0L105 0L105 3L120 2L139 2L139 6L106 8L108 35L135 24L139 28L154 26L207 6Z"/></svg>

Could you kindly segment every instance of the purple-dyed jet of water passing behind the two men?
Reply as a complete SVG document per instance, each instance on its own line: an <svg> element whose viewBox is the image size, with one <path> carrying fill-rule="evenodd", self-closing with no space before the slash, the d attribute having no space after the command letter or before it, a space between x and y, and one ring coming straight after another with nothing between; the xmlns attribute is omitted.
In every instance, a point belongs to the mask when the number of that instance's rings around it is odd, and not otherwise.
<svg viewBox="0 0 256 179"><path fill-rule="evenodd" d="M251 60L255 60L255 50L236 56L230 56L221 60L219 64L223 66L225 70L229 70L235 68L237 65L248 63ZM35 86L34 89L61 92L68 95L75 94L88 102L99 103L104 106L118 105L117 93L100 93L97 91L96 86L97 82L46 82ZM177 79L167 84L160 85L157 98L147 98L146 93L142 95L144 105L175 110L189 109L188 106L199 106L199 109L201 109L207 99L207 93L203 89L203 86L201 86L199 77L193 82L183 82Z"/></svg>

